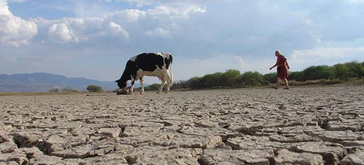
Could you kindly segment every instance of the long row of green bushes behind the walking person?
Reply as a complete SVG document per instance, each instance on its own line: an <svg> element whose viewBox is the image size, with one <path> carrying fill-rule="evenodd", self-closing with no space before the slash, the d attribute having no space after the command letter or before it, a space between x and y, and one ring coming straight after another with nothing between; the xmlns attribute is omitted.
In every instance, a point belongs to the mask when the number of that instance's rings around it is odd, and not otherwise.
<svg viewBox="0 0 364 165"><path fill-rule="evenodd" d="M176 81L171 90L259 87L275 84L276 77L277 73L262 75L249 71L240 74L240 71L231 69L224 73L217 72L202 77L192 77L186 81ZM351 61L333 66L310 66L303 71L290 72L288 79L293 86L333 85L350 81L351 84L360 84L358 81L364 79L364 62Z"/></svg>

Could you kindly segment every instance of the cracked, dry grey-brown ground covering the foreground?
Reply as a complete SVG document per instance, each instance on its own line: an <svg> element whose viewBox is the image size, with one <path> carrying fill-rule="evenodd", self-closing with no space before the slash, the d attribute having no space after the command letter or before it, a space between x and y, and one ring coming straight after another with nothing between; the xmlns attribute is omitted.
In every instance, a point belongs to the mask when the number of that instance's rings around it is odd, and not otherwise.
<svg viewBox="0 0 364 165"><path fill-rule="evenodd" d="M364 87L0 97L0 164L363 165Z"/></svg>

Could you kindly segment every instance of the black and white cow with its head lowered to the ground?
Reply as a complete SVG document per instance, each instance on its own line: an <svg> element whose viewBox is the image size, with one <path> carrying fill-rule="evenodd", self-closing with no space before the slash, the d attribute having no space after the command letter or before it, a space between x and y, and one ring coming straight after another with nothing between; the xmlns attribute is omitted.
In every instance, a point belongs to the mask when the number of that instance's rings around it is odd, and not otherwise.
<svg viewBox="0 0 364 165"><path fill-rule="evenodd" d="M123 75L120 79L116 80L119 90L127 86L127 81L132 80L132 87L130 91L134 89L134 82L140 80L140 86L142 88L141 94L144 93L143 76L155 76L162 80L162 85L159 88L160 93L167 82L168 87L165 91L169 91L169 87L172 85L172 55L170 53L142 53L140 55L132 57L126 63L126 67ZM168 68L171 68L171 74L168 75Z"/></svg>

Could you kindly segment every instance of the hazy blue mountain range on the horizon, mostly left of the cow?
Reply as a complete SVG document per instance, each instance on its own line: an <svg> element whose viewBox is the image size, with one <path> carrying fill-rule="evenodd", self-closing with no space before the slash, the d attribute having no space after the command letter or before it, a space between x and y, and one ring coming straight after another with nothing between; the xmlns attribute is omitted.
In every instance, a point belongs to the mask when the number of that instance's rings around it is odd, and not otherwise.
<svg viewBox="0 0 364 165"><path fill-rule="evenodd" d="M64 75L47 73L0 75L0 92L44 92L54 88L70 88L83 91L89 85L101 86L103 90L118 88L114 81L67 78ZM138 88L140 85L135 83L135 87Z"/></svg>

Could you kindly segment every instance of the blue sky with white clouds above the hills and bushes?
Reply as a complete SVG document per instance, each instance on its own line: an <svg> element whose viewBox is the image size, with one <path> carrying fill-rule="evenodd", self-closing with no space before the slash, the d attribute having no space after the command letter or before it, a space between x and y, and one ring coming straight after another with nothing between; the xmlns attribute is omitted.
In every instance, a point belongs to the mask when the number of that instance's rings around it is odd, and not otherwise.
<svg viewBox="0 0 364 165"><path fill-rule="evenodd" d="M0 74L115 80L170 52L175 80L364 61L364 0L0 0ZM146 78L146 83L158 82Z"/></svg>

